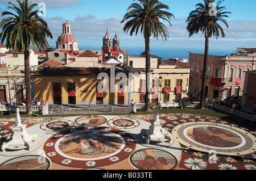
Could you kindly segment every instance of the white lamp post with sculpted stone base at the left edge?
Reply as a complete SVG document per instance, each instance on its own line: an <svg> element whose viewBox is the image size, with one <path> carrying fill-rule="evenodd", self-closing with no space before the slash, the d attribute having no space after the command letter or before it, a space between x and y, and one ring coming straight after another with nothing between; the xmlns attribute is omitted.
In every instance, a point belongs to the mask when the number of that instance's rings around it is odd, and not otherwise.
<svg viewBox="0 0 256 181"><path fill-rule="evenodd" d="M22 149L31 149L31 146L36 143L37 141L37 135L28 135L26 132L26 125L21 123L20 115L19 115L19 107L18 107L18 100L17 100L17 94L16 94L16 88L17 84L16 81L19 78L11 78L11 80L14 82L12 87L12 90L15 90L15 96L16 96L16 124L11 127L13 129L13 135L9 140L6 140L3 142L1 149L3 151L6 150L22 150Z"/></svg>

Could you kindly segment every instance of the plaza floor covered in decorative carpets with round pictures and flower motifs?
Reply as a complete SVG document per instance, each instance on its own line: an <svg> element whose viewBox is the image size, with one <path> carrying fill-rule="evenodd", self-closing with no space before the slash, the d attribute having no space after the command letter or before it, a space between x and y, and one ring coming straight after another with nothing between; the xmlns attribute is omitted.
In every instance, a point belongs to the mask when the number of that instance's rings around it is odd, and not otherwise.
<svg viewBox="0 0 256 181"><path fill-rule="evenodd" d="M1 170L250 170L256 169L256 132L203 115L162 114L171 142L146 144L141 130L154 115L22 118L36 134L30 150L0 151ZM1 140L15 119L0 120Z"/></svg>

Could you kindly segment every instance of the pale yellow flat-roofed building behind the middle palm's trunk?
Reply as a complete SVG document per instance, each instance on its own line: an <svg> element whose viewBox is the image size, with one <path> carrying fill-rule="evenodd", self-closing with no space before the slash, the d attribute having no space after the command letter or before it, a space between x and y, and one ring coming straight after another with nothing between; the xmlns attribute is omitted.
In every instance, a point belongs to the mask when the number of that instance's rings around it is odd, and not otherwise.
<svg viewBox="0 0 256 181"><path fill-rule="evenodd" d="M129 69L134 73L131 87L131 99L136 103L144 103L146 92L146 74L143 69ZM150 102L156 103L157 98L162 103L187 101L189 69L177 66L159 66L158 69L151 69L150 76ZM137 73L137 74L136 74ZM159 91L158 91L159 89Z"/></svg>

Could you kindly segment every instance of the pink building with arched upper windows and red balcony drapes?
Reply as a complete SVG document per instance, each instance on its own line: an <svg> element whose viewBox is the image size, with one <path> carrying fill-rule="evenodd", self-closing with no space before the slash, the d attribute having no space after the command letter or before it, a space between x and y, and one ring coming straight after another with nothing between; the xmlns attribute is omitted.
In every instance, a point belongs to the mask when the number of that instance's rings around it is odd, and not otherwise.
<svg viewBox="0 0 256 181"><path fill-rule="evenodd" d="M208 100L242 100L245 72L255 70L255 52L231 56L209 55L205 96ZM189 53L189 95L199 99L203 77L204 54Z"/></svg>

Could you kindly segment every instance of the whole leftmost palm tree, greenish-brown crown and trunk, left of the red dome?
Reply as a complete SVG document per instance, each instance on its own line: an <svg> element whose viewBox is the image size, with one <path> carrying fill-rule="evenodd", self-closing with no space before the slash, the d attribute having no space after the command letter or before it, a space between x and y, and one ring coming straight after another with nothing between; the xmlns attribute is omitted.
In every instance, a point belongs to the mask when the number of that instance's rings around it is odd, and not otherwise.
<svg viewBox="0 0 256 181"><path fill-rule="evenodd" d="M5 41L6 48L18 49L19 52L24 51L24 65L25 65L25 84L26 84L26 99L27 99L27 113L32 113L31 106L31 85L30 85L30 43L32 43L33 49L35 44L40 51L49 47L46 40L47 37L51 37L52 34L47 27L47 23L41 16L38 15L39 10L33 11L37 4L24 0L16 0L19 7L9 2L11 6L7 9L13 10L13 12L4 11L2 16L8 15L7 18L2 19L0 28L0 39Z"/></svg>

